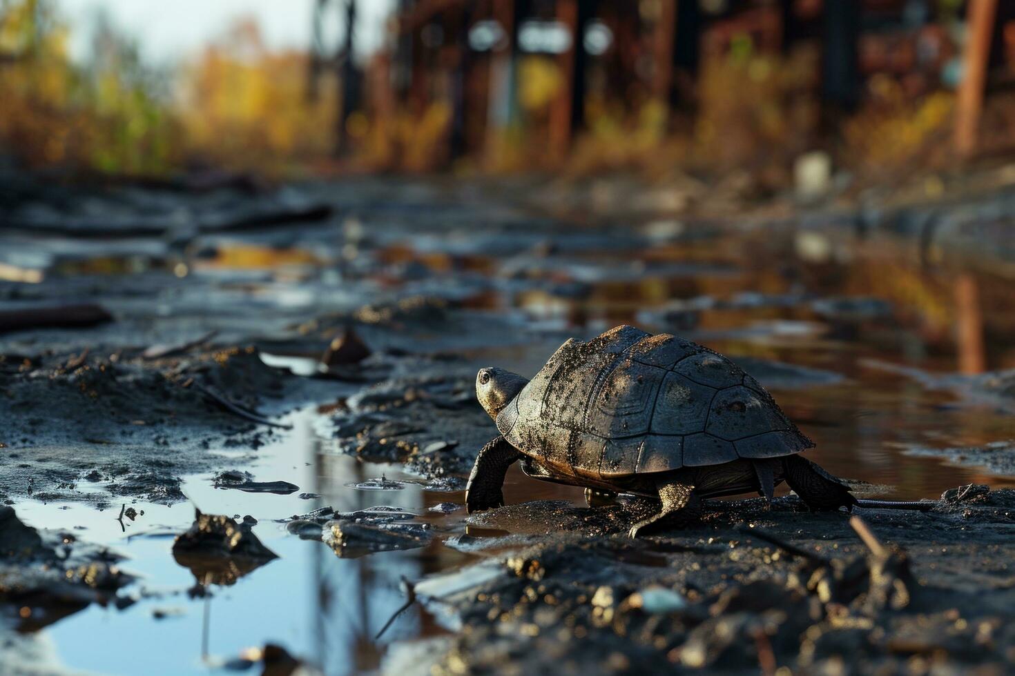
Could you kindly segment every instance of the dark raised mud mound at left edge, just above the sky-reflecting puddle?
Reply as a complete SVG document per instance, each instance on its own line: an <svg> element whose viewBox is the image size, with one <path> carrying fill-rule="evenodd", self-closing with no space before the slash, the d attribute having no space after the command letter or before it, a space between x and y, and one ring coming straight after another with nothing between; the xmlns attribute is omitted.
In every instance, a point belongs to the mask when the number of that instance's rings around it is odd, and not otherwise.
<svg viewBox="0 0 1015 676"><path fill-rule="evenodd" d="M4 357L5 500L180 502L182 475L226 463L209 449L242 449L249 460L283 432L262 411L340 390L268 367L253 347L96 353Z"/></svg>

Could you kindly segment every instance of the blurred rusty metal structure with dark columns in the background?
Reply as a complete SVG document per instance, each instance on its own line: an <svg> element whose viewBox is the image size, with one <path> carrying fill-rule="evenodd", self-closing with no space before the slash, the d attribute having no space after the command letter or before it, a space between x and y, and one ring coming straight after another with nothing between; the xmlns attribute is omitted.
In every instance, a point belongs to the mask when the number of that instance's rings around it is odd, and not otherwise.
<svg viewBox="0 0 1015 676"><path fill-rule="evenodd" d="M820 45L819 95L833 115L848 115L876 73L907 77L907 86L955 87L955 148L975 149L989 74L1005 62L1015 72L1015 3L966 0L398 0L389 51L379 57L385 78L371 78L369 105L419 112L433 101L451 109L451 158L490 152L495 134L525 124L538 130L550 158L563 156L588 123L590 101L693 110L703 60L743 50L788 53L801 42ZM354 22L355 0L317 0L315 22L330 8ZM951 14L946 7L951 7ZM956 44L947 26L964 23ZM320 32L316 32L320 35ZM315 41L314 78L338 72L344 103L340 132L362 104L360 75L347 55ZM524 120L520 95L532 88L523 62L536 57L555 78L552 96ZM909 77L913 73L919 77ZM312 80L314 79L312 78ZM912 83L916 84L912 84ZM532 116L530 116L532 118Z"/></svg>

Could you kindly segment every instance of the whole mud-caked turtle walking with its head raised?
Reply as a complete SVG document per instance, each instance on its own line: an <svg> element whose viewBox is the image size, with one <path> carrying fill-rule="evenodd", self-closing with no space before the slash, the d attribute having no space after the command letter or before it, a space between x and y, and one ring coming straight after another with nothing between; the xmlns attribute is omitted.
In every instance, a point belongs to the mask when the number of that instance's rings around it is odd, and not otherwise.
<svg viewBox="0 0 1015 676"><path fill-rule="evenodd" d="M658 497L663 509L631 536L663 521L686 523L699 498L758 492L785 480L811 509L852 508L833 476L797 453L814 444L771 395L722 355L672 335L618 326L564 343L531 381L498 368L476 376L479 402L499 437L469 477L470 512L503 504L507 467L523 459L535 478Z"/></svg>

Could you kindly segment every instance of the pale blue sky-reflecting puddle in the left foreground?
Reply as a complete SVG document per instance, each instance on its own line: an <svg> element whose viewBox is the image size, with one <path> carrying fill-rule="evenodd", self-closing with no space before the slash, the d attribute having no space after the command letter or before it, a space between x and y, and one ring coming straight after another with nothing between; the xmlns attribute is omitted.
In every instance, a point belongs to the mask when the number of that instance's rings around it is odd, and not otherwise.
<svg viewBox="0 0 1015 676"><path fill-rule="evenodd" d="M203 599L188 594L194 577L174 561L170 551L173 539L162 535L189 527L193 519L190 505L146 506L145 524L131 524L128 534L133 537L128 540L112 510L25 504L19 513L23 512L27 523L47 525L62 520L79 525L77 532L82 539L127 552L130 559L124 567L141 576L134 588L140 600L130 608L117 611L90 606L35 634L35 641L55 646L63 664L96 673L202 673L244 649L276 643L322 666L328 674L344 674L376 669L385 647L392 642L439 632L429 616L413 606L399 615L384 636L375 640L404 603L403 579L415 581L457 565L463 560L461 554L435 544L417 551L340 558L321 542L289 535L274 519L324 505L351 512L386 504L439 520L446 517L426 508L460 497L429 497L411 483L401 491L346 487L350 479L362 480L382 472L401 475L391 467L364 465L349 456L326 452L326 444L311 431L312 420L309 411L295 416L292 436L262 449L252 473L258 480L292 481L303 492L319 494L319 499L215 490L208 475L185 482L185 493L207 513L241 518L257 515L255 532L280 556L230 580L231 586L203 580L210 592ZM104 645L95 641L98 635L130 639ZM174 650L166 650L168 646Z"/></svg>

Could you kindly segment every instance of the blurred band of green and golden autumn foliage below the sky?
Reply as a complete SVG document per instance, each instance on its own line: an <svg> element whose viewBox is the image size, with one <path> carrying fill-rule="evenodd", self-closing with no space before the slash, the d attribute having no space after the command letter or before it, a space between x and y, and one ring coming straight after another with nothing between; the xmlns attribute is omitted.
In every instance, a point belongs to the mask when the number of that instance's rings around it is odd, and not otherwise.
<svg viewBox="0 0 1015 676"><path fill-rule="evenodd" d="M307 55L269 51L252 21L168 72L109 26L75 63L68 33L47 0L0 0L0 146L27 166L291 173L334 147L334 91L311 100Z"/></svg>

